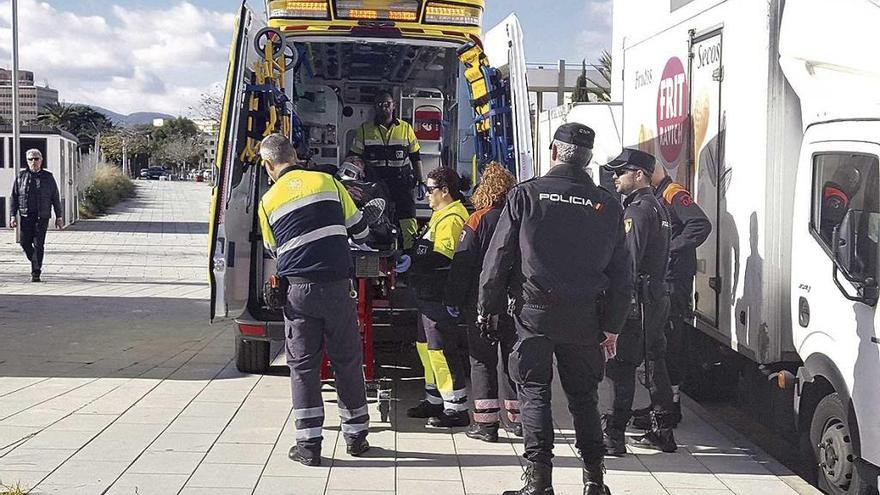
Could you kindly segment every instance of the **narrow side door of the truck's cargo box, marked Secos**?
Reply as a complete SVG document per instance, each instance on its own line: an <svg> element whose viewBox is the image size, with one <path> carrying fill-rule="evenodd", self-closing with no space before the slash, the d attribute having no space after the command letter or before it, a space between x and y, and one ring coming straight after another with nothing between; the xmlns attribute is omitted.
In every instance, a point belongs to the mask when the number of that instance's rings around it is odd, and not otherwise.
<svg viewBox="0 0 880 495"><path fill-rule="evenodd" d="M725 245L727 219L724 194L729 176L724 162L724 117L721 106L722 31L691 35L690 115L692 121L691 183L699 204L712 222L712 234L697 248L697 275L694 280L694 309L701 320L718 326L718 305L734 291L738 246ZM730 220L732 221L732 219ZM723 299L725 298L726 299Z"/></svg>

